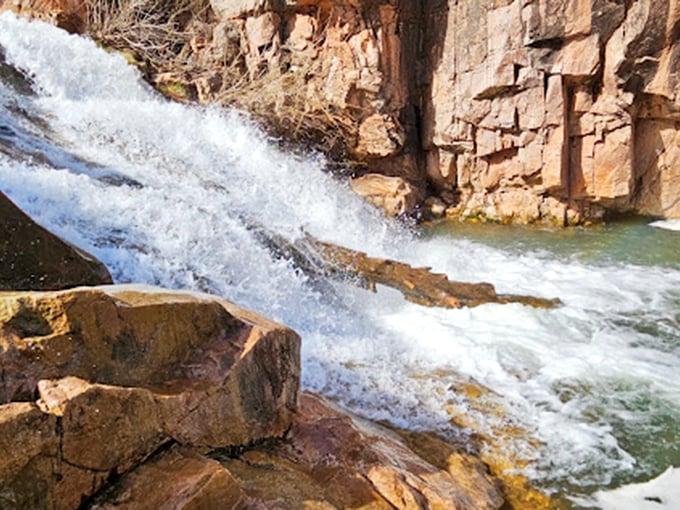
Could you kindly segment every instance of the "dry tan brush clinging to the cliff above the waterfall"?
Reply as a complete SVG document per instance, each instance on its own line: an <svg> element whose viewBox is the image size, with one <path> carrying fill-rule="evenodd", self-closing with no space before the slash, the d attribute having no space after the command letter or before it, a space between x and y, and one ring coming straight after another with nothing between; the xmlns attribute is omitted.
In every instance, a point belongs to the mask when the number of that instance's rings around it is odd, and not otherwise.
<svg viewBox="0 0 680 510"><path fill-rule="evenodd" d="M310 82L323 81L320 63L295 55L285 45L280 61L294 56L296 65L266 65L254 73L245 65L243 44L227 61L198 64L194 59L188 63L189 41L195 34L187 27L192 26L192 20L209 21L209 0L86 2L88 34L106 47L132 52L150 68L151 81L154 74L166 73L178 77L178 87L195 88L192 79L214 74L217 67L222 85L213 100L250 112L277 137L344 156L347 141L356 136L357 125L351 115L325 100L323 91L310 89ZM316 44L320 46L324 37L321 30ZM164 85L169 89L173 84Z"/></svg>

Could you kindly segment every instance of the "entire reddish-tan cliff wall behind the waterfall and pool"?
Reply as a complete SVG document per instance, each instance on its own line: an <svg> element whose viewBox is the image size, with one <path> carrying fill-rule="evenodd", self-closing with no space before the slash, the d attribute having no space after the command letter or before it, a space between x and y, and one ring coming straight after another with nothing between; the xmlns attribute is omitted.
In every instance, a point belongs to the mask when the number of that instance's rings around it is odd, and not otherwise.
<svg viewBox="0 0 680 510"><path fill-rule="evenodd" d="M92 22L64 0L4 4L58 4L62 25ZM680 217L675 1L190 5L176 16L189 36L150 80L275 118L286 133L318 131L313 141L360 163L354 189L390 214L420 203L498 221Z"/></svg>

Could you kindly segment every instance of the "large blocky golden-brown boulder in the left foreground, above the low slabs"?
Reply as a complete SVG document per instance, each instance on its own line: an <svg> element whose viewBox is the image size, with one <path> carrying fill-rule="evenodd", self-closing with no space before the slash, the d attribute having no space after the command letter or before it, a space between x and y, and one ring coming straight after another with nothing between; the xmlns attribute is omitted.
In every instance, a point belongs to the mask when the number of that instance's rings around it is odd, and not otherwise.
<svg viewBox="0 0 680 510"><path fill-rule="evenodd" d="M77 508L164 445L282 436L299 349L291 330L186 294L0 293L0 507Z"/></svg>

